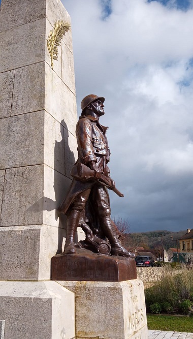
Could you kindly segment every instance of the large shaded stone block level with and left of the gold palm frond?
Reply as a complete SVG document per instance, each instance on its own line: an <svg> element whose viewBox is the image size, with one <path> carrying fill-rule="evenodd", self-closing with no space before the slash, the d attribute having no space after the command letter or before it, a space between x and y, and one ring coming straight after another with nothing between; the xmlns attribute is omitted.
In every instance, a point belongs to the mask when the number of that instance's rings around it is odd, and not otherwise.
<svg viewBox="0 0 193 339"><path fill-rule="evenodd" d="M43 18L1 32L0 73L44 61L45 29Z"/></svg>

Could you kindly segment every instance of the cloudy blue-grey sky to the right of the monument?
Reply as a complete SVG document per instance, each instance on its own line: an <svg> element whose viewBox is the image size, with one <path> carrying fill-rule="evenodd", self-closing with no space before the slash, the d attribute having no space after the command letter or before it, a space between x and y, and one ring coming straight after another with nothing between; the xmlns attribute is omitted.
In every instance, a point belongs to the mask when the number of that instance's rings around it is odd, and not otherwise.
<svg viewBox="0 0 193 339"><path fill-rule="evenodd" d="M131 232L193 228L193 0L63 0L78 115L105 97L109 167Z"/></svg>

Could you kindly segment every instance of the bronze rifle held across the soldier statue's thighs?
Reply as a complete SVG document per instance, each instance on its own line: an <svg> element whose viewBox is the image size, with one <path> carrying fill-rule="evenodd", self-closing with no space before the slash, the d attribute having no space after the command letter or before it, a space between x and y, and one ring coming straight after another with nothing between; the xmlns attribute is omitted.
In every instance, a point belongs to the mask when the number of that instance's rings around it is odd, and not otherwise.
<svg viewBox="0 0 193 339"><path fill-rule="evenodd" d="M78 163L73 167L71 171L71 175L75 179L78 179L81 181L87 181L90 179L94 179L95 172L91 170L88 166ZM105 184L107 188L110 188L112 186L111 180L104 174L101 174L99 182L102 183L103 185ZM111 190L115 192L119 197L124 197L124 195L119 190L117 190L116 187L114 187Z"/></svg>

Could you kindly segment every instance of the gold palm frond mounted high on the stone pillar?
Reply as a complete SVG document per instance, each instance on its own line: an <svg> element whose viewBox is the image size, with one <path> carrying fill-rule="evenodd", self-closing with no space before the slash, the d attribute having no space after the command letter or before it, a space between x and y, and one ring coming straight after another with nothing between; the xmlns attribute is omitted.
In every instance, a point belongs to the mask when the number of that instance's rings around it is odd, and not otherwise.
<svg viewBox="0 0 193 339"><path fill-rule="evenodd" d="M47 39L48 51L51 57L51 67L53 69L53 59L58 59L58 46L61 44L61 39L68 32L70 24L63 20L58 20L54 23L54 28L50 30L50 34Z"/></svg>

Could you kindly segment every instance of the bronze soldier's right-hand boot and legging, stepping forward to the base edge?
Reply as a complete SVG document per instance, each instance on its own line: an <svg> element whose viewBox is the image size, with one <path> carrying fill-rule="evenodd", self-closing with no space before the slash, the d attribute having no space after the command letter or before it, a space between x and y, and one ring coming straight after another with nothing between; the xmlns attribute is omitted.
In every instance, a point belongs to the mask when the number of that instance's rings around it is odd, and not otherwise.
<svg viewBox="0 0 193 339"><path fill-rule="evenodd" d="M135 258L135 254L125 250L124 247L121 246L120 242L118 241L115 225L111 220L110 216L107 215L106 217L101 217L101 222L104 233L109 239L109 242L111 244L111 255Z"/></svg>

